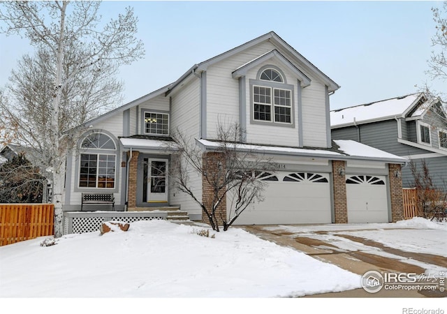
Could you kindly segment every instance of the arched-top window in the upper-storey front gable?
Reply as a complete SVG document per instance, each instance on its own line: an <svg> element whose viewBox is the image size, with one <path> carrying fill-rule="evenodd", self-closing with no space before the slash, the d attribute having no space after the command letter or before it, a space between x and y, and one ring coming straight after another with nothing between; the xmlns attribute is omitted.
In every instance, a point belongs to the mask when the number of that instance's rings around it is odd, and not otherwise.
<svg viewBox="0 0 447 314"><path fill-rule="evenodd" d="M284 84L279 71L267 68L252 84L253 121L293 124L293 86Z"/></svg>

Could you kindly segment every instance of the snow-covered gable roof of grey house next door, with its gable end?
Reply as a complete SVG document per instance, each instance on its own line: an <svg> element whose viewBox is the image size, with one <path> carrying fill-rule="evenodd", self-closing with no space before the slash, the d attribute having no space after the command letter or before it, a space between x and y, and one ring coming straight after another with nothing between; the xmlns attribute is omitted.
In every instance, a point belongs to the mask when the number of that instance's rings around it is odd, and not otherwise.
<svg viewBox="0 0 447 314"><path fill-rule="evenodd" d="M380 100L375 103L356 105L330 112L331 128L355 126L395 118L419 117L430 105L425 105L423 93L409 94L402 97ZM421 110L424 108L423 110Z"/></svg>

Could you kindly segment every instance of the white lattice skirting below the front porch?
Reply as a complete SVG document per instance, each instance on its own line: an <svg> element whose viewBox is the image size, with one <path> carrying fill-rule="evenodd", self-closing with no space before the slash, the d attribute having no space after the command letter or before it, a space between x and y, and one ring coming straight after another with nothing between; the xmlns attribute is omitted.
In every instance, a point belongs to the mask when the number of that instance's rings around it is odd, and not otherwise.
<svg viewBox="0 0 447 314"><path fill-rule="evenodd" d="M134 223L138 220L163 220L166 213L150 211L66 211L64 213L64 234L86 233L99 230L105 221L123 221Z"/></svg>

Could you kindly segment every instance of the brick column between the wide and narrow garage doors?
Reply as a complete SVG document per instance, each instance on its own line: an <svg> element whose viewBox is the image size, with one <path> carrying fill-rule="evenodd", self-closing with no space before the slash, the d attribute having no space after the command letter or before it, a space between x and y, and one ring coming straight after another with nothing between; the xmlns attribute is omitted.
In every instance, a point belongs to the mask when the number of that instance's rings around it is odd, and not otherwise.
<svg viewBox="0 0 447 314"><path fill-rule="evenodd" d="M348 203L346 200L346 175L340 175L339 170L345 170L343 160L332 160L332 184L334 188L335 223L348 223Z"/></svg>

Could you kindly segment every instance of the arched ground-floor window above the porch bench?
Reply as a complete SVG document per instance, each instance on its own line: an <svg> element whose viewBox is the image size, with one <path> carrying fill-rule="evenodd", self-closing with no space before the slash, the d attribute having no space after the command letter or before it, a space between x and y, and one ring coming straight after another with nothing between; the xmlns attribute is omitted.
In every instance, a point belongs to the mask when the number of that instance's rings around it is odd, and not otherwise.
<svg viewBox="0 0 447 314"><path fill-rule="evenodd" d="M91 133L81 142L79 187L115 188L116 145L104 133Z"/></svg>

